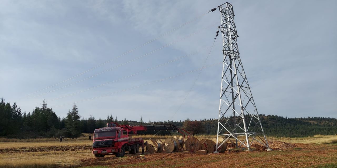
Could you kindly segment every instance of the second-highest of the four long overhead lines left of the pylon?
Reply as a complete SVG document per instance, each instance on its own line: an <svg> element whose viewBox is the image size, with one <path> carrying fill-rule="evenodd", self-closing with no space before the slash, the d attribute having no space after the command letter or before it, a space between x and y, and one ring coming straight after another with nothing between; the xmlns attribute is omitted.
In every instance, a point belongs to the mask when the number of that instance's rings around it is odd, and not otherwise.
<svg viewBox="0 0 337 168"><path fill-rule="evenodd" d="M215 24L210 25L210 26L214 26L214 25L215 25ZM49 92L45 92L45 93L41 93L41 94L38 94L38 95L35 95L35 96L31 96L31 97L29 97L29 98L33 98L33 97L37 97L37 96L40 96L40 95L43 95L43 94L51 93L51 92L54 92L54 91L56 91L56 90L60 90L60 89L63 89L63 88L65 88L65 87L71 86L71 85L73 85L73 84L76 84L76 83L85 81L85 80L87 80L87 79L90 79L90 78L95 77L95 76L97 76L97 75L100 75L100 74L102 74L102 73L111 71L111 70L113 70L113 69L115 69L115 68L118 68L118 67L120 67L120 66L123 66L123 65L125 65L125 64L128 64L129 62L132 62L132 61L137 60L137 59L139 59L139 58L142 58L142 57L144 57L144 56L146 56L146 55L149 55L149 54L151 54L151 53L153 53L153 52L156 52L156 51L158 51L158 50L160 50L160 49L163 49L163 48L165 48L165 47L167 47L167 46L170 46L170 45L172 45L172 44L174 44L174 43L177 43L178 41L184 40L184 39L186 39L186 38L188 38L188 37L190 37L190 36L192 36L192 35L194 35L194 34L197 34L197 33L201 32L201 31L203 31L203 30L209 28L210 26L207 26L207 27L205 27L205 28L203 28L203 29L201 29L201 30L199 30L199 31L197 31L197 32L194 32L194 33L192 33L192 34L190 34L190 35L188 35L188 36L186 36L186 37L184 37L184 38L181 38L181 39L179 39L179 40L176 40L176 41L174 41L174 42L172 42L172 43L170 43L170 44L167 44L167 45L165 45L165 46L163 46L163 47L160 47L160 48L158 48L158 49L156 49L156 50L154 50L154 51L151 51L151 52L149 52L149 53L147 53L147 54L144 54L144 55L142 55L142 56L139 56L139 57L137 57L137 58L134 58L134 59L132 59L132 60L129 60L129 61L127 61L127 62L125 62L125 63L123 63L123 64L120 64L120 65L118 65L118 66L116 66L116 67L110 68L110 69L108 69L108 70L105 70L105 71L103 71L103 72L100 72L100 73L98 73L98 74L95 74L95 75L93 75L93 76L90 76L90 77L88 77L88 78L85 78L85 79L82 79L82 80L80 80L80 81L77 81L77 82L68 84L68 85L66 85L66 86L60 87L60 88L58 88L58 89L54 89L54 90L51 90L51 91L49 91Z"/></svg>

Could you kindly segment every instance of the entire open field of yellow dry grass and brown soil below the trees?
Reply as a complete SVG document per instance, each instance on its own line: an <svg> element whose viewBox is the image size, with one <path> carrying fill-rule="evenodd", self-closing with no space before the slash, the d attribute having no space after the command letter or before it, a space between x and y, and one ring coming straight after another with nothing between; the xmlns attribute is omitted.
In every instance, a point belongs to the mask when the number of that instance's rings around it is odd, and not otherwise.
<svg viewBox="0 0 337 168"><path fill-rule="evenodd" d="M202 153L156 153L146 154L145 159L125 155L122 158L106 156L95 158L91 154L89 134L78 139L57 138L5 139L0 138L0 168L37 167L337 167L337 135L316 135L305 138L276 138L269 141L283 141L291 145L281 150L229 152L220 154ZM149 139L152 135L134 135ZM214 136L196 136L199 139ZM166 136L155 136L165 139ZM135 154L136 155L136 154ZM140 154L137 154L137 156ZM134 155L133 155L134 156ZM228 162L245 158L250 163ZM223 166L220 166L223 165Z"/></svg>

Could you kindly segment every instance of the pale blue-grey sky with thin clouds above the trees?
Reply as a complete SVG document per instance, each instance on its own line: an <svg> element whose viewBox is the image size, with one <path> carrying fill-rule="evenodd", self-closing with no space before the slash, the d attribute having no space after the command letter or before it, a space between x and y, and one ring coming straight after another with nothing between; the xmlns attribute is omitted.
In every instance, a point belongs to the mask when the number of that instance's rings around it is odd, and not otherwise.
<svg viewBox="0 0 337 168"><path fill-rule="evenodd" d="M220 12L207 12L223 3L1 0L0 96L61 117L75 103L83 118L217 118ZM229 3L258 113L337 118L337 1Z"/></svg>

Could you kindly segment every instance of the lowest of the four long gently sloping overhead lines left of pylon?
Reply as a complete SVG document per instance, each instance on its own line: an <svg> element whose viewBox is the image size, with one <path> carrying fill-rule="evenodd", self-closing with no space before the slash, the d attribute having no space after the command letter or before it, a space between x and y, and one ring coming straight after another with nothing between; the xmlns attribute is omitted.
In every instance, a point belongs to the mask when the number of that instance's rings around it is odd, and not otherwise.
<svg viewBox="0 0 337 168"><path fill-rule="evenodd" d="M150 83L146 83L146 84L139 85L139 86L136 86L136 87L120 90L120 91L117 91L117 92L113 92L113 93L109 93L109 94L105 94L105 95L101 95L101 96L97 96L97 97L93 97L93 98L89 98L89 99L85 99L85 100L75 101L75 102L72 102L72 103L67 103L67 104L63 104L63 105L59 105L59 106L53 106L53 108L55 108L55 107L61 107L61 106L66 106L66 105L69 105L69 104L74 104L74 103L78 103L78 102L82 102L82 101L92 100L92 99L95 99L95 98L109 96L109 95L116 94L116 93L119 93L119 92L123 92L123 91L131 90L131 89L139 88L139 87L142 87L142 86L145 86L145 85L149 85L149 84L152 84L152 83L160 82L160 81L163 81L163 80L171 79L171 78L178 77L178 76L181 76L181 75L185 75L185 74L188 74L188 73L191 73L191 72L202 70L202 69L205 69L205 68L213 67L213 66L221 64L221 63L223 63L223 62L218 62L216 64L213 64L213 65L210 65L210 66L207 66L207 67L204 67L204 68L199 68L199 69L196 69L196 70L188 71L188 72L185 72L185 73L182 73L182 74L179 74L179 75L175 75L175 76L171 76L171 77L168 77L168 78L156 80L156 81L153 81L153 82L150 82Z"/></svg>

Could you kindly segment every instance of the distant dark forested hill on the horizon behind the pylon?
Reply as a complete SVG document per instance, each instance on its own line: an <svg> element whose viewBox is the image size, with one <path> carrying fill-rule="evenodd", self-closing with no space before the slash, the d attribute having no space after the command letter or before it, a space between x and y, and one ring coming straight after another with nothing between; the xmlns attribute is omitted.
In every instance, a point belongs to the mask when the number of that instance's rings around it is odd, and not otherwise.
<svg viewBox="0 0 337 168"><path fill-rule="evenodd" d="M287 118L275 115L260 114L262 126L267 136L275 137L307 137L317 134L336 135L337 119L327 117ZM200 120L205 128L205 134L216 134L217 119ZM157 123L173 123L182 127L183 121L165 121ZM130 121L129 124L139 125L139 122Z"/></svg>

